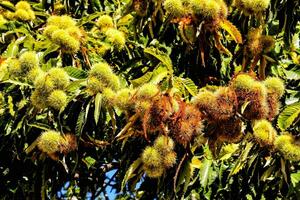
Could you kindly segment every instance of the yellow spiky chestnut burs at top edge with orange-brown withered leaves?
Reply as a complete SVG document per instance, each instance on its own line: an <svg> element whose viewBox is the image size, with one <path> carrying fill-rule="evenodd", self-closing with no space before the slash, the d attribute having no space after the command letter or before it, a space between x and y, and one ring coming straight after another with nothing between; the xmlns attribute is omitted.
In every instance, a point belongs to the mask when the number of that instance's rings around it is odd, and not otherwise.
<svg viewBox="0 0 300 200"><path fill-rule="evenodd" d="M166 0L163 6L173 18L172 21L179 24L179 33L183 41L194 45L199 39L201 51L204 51L208 42L206 32L209 32L214 38L215 47L220 52L231 55L221 43L221 29L227 31L236 43L242 43L241 33L226 19L228 7L223 0ZM204 63L204 57L202 62Z"/></svg>

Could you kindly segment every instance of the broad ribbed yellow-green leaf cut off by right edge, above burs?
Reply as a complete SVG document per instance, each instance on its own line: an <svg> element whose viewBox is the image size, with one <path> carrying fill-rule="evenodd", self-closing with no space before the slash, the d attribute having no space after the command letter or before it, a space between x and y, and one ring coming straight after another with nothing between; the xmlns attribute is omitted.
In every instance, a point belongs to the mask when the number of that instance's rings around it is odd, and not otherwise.
<svg viewBox="0 0 300 200"><path fill-rule="evenodd" d="M293 103L286 106L279 114L277 125L280 130L284 131L291 125L296 124L299 121L300 116L300 102Z"/></svg>

